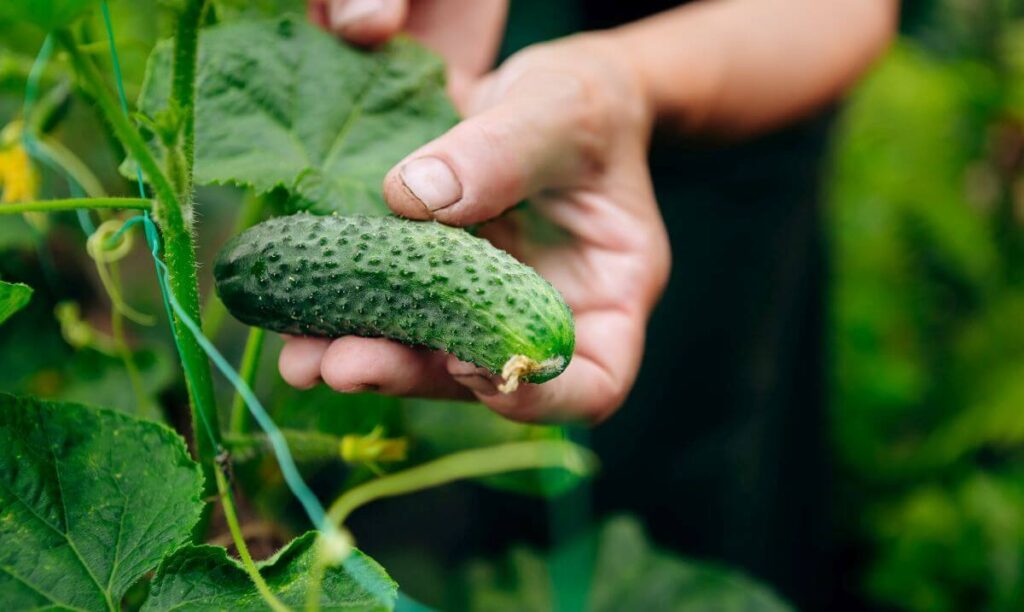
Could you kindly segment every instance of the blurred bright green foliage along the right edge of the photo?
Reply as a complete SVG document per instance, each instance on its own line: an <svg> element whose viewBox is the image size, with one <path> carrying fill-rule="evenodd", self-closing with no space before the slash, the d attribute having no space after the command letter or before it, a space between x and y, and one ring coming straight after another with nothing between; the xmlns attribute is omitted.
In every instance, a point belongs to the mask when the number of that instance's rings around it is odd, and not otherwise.
<svg viewBox="0 0 1024 612"><path fill-rule="evenodd" d="M1019 610L1024 5L913 8L829 169L837 508L870 601Z"/></svg>

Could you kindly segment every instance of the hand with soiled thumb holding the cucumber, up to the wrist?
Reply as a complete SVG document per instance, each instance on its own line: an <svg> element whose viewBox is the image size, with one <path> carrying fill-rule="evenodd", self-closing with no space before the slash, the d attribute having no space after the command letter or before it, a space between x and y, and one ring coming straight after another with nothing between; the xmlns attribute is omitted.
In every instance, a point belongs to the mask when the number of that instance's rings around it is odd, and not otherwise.
<svg viewBox="0 0 1024 612"><path fill-rule="evenodd" d="M468 118L387 175L392 210L480 234L534 266L577 322L567 369L511 394L454 356L384 339L290 338L282 376L342 392L476 398L518 421L598 422L624 401L639 368L648 315L669 271L650 184L651 113L611 39L583 35L528 48L467 91ZM531 210L563 233L537 241ZM504 214L503 214L504 213ZM498 218L501 215L500 218ZM497 219L496 219L497 218Z"/></svg>

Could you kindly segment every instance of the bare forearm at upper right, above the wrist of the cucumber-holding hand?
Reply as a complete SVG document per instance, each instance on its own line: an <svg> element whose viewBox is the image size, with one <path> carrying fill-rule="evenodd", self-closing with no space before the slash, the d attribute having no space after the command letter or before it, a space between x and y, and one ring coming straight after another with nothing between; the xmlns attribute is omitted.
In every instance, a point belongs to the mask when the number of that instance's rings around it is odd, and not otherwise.
<svg viewBox="0 0 1024 612"><path fill-rule="evenodd" d="M896 12L895 0L706 0L608 35L659 122L734 136L835 99L885 48Z"/></svg>

